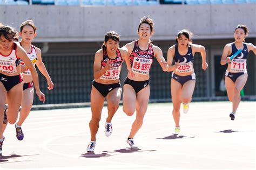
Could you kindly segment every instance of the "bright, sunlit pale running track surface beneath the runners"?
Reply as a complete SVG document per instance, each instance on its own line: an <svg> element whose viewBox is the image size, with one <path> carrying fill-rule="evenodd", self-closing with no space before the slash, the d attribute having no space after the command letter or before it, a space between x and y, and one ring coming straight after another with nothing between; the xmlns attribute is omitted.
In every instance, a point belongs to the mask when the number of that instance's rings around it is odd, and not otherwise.
<svg viewBox="0 0 256 170"><path fill-rule="evenodd" d="M255 169L256 102L241 102L235 121L231 107L190 103L188 114L181 110L176 137L172 103L150 104L133 149L126 139L135 115L126 116L120 106L106 137L104 107L95 153L86 152L90 108L31 111L22 141L14 125L6 128L0 169Z"/></svg>

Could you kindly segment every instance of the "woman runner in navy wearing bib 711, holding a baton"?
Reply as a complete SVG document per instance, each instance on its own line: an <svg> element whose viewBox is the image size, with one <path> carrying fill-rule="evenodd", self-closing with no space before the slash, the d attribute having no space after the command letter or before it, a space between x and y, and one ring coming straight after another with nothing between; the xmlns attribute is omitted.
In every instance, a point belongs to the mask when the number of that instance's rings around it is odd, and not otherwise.
<svg viewBox="0 0 256 170"><path fill-rule="evenodd" d="M220 64L226 65L226 77L225 84L227 88L228 100L232 102L232 112L230 118L232 121L235 119L235 112L237 111L238 105L241 101L240 91L244 88L247 81L247 69L246 60L247 54L253 51L256 54L256 47L253 44L248 44L245 41L245 37L248 36L248 28L245 25L238 25L234 31L234 42L226 44L223 50ZM241 53L230 60L230 57L242 49Z"/></svg>

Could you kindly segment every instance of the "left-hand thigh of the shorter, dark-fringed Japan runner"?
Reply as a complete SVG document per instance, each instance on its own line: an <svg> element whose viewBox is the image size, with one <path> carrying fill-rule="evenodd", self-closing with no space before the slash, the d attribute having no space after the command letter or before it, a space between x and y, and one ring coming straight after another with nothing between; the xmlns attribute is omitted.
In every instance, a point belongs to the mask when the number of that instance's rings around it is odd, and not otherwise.
<svg viewBox="0 0 256 170"><path fill-rule="evenodd" d="M92 117L100 117L104 106L105 97L99 93L99 91L92 86L91 90L91 111Z"/></svg>

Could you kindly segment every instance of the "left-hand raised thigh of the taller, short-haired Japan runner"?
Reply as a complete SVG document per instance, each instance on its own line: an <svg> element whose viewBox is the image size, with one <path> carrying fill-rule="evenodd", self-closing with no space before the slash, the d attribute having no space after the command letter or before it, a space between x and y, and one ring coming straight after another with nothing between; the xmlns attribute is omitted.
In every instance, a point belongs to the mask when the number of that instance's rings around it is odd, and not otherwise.
<svg viewBox="0 0 256 170"><path fill-rule="evenodd" d="M123 108L136 110L136 93L130 84L124 84Z"/></svg>

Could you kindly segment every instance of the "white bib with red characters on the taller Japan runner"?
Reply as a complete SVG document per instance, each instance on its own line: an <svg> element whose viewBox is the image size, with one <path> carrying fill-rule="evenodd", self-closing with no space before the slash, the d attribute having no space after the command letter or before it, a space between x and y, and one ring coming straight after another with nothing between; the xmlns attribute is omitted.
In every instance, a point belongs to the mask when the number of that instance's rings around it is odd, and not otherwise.
<svg viewBox="0 0 256 170"><path fill-rule="evenodd" d="M153 62L152 59L134 57L133 63L132 63L132 70L133 72L138 74L145 74L145 75L149 74L149 70L152 62Z"/></svg>

